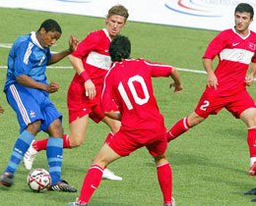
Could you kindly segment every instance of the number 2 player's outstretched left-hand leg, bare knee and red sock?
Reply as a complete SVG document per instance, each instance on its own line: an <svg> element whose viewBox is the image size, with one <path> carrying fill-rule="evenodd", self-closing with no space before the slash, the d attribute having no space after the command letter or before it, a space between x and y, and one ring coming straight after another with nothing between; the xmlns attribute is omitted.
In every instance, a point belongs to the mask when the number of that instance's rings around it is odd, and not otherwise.
<svg viewBox="0 0 256 206"><path fill-rule="evenodd" d="M167 132L168 141L178 137L188 129L202 123L205 119L193 112L190 116L179 120L171 129Z"/></svg>

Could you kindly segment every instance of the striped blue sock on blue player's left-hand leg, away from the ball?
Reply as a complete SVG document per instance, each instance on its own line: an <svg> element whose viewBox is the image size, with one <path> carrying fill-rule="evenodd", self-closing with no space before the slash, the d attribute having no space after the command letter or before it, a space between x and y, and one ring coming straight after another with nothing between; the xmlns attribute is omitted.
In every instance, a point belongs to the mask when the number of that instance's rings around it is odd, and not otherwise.
<svg viewBox="0 0 256 206"><path fill-rule="evenodd" d="M5 173L11 173L11 174L15 173L25 153L31 146L33 139L34 139L34 135L32 135L32 133L29 132L28 130L24 130L20 134L20 136L18 137L14 145L12 156L5 170Z"/></svg>

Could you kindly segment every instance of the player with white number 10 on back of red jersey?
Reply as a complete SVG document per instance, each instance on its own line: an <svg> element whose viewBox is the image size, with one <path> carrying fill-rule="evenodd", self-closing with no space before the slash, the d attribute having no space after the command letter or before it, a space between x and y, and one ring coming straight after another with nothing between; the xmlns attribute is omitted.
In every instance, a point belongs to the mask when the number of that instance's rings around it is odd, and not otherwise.
<svg viewBox="0 0 256 206"><path fill-rule="evenodd" d="M127 37L117 35L110 43L113 65L104 78L101 104L105 116L121 121L121 128L99 150L84 180L81 196L70 204L86 206L100 183L103 168L120 157L146 146L154 156L163 205L173 206L171 169L165 155L167 146L163 117L154 96L152 77L172 77L174 93L182 90L178 72L168 65L144 59L128 59L131 50ZM120 113L111 108L112 96Z"/></svg>

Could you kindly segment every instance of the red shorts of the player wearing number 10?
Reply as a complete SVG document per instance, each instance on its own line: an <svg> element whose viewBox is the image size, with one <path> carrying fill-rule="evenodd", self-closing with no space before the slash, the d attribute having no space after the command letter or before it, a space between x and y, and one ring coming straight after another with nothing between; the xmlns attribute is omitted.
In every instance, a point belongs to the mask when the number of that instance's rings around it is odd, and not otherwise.
<svg viewBox="0 0 256 206"><path fill-rule="evenodd" d="M129 132L120 129L111 138L108 138L105 143L122 157L130 155L130 153L143 146L148 148L152 156L163 154L167 148L166 132L158 136L136 138L129 135Z"/></svg>

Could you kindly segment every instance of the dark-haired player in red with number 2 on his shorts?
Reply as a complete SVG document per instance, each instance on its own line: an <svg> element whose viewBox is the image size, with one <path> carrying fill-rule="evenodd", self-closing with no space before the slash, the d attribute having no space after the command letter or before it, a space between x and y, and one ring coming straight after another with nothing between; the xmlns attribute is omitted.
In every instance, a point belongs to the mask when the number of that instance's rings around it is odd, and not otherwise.
<svg viewBox="0 0 256 206"><path fill-rule="evenodd" d="M254 82L256 72L256 33L249 29L253 15L253 8L249 4L236 6L235 26L220 32L209 44L203 57L208 81L195 111L178 121L167 134L168 140L172 140L225 108L248 127L249 174L252 176L256 171L256 106L246 86ZM217 55L220 63L214 72L212 62ZM246 77L249 64L250 73Z"/></svg>

